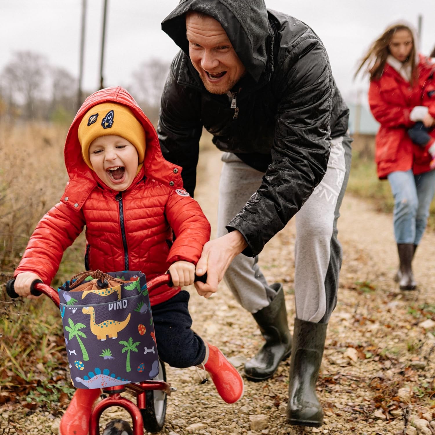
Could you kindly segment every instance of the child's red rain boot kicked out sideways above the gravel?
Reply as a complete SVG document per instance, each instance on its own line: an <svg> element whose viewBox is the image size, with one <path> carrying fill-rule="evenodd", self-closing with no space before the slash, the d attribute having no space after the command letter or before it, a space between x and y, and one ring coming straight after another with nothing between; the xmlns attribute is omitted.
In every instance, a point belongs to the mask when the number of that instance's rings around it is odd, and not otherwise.
<svg viewBox="0 0 435 435"><path fill-rule="evenodd" d="M216 346L208 345L208 358L206 354L203 365L225 402L235 403L242 398L243 379Z"/></svg>

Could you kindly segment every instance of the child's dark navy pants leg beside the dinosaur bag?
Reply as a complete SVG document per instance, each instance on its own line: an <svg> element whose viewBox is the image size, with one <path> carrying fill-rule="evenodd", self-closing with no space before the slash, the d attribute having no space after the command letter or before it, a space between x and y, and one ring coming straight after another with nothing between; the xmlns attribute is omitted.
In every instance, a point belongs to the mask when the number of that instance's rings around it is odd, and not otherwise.
<svg viewBox="0 0 435 435"><path fill-rule="evenodd" d="M191 330L190 294L182 290L173 298L152 307L159 358L172 367L191 367L205 358L202 338Z"/></svg>

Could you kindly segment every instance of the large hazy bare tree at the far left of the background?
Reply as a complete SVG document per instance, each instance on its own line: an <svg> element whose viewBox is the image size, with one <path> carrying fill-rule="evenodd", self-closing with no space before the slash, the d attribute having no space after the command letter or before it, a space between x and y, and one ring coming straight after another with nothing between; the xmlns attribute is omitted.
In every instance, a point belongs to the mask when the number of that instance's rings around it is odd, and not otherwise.
<svg viewBox="0 0 435 435"><path fill-rule="evenodd" d="M47 60L31 51L18 51L3 70L3 80L24 104L29 118L34 117L37 99L41 96Z"/></svg>

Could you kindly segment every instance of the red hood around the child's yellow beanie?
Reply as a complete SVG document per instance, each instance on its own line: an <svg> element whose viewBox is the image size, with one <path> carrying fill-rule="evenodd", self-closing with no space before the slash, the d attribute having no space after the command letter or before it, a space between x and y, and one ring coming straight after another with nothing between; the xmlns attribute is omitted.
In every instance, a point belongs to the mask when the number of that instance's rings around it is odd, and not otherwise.
<svg viewBox="0 0 435 435"><path fill-rule="evenodd" d="M62 202L65 202L76 210L80 210L90 192L97 186L99 179L95 172L92 171L83 160L77 132L84 114L91 107L107 101L113 101L114 103L127 106L145 130L146 149L144 165L131 186L134 186L137 181L145 175L148 178L161 181L165 185L182 187L183 181L181 179L181 167L171 164L163 158L157 133L150 120L137 105L134 98L127 92L127 90L120 86L107 87L94 92L94 94L87 97L68 130L67 139L65 141L64 157L69 181L64 195L62 196Z"/></svg>

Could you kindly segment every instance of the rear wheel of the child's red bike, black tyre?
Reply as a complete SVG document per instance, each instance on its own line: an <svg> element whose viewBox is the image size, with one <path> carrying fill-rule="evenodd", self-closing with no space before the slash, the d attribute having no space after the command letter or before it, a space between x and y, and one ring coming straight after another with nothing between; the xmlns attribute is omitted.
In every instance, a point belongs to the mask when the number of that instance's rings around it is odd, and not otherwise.
<svg viewBox="0 0 435 435"><path fill-rule="evenodd" d="M166 382L166 370L164 362L159 359L159 374L153 378L153 381ZM142 418L144 419L144 428L147 432L159 432L163 428L166 416L166 399L164 391L148 390L146 396L146 409L141 409Z"/></svg>

